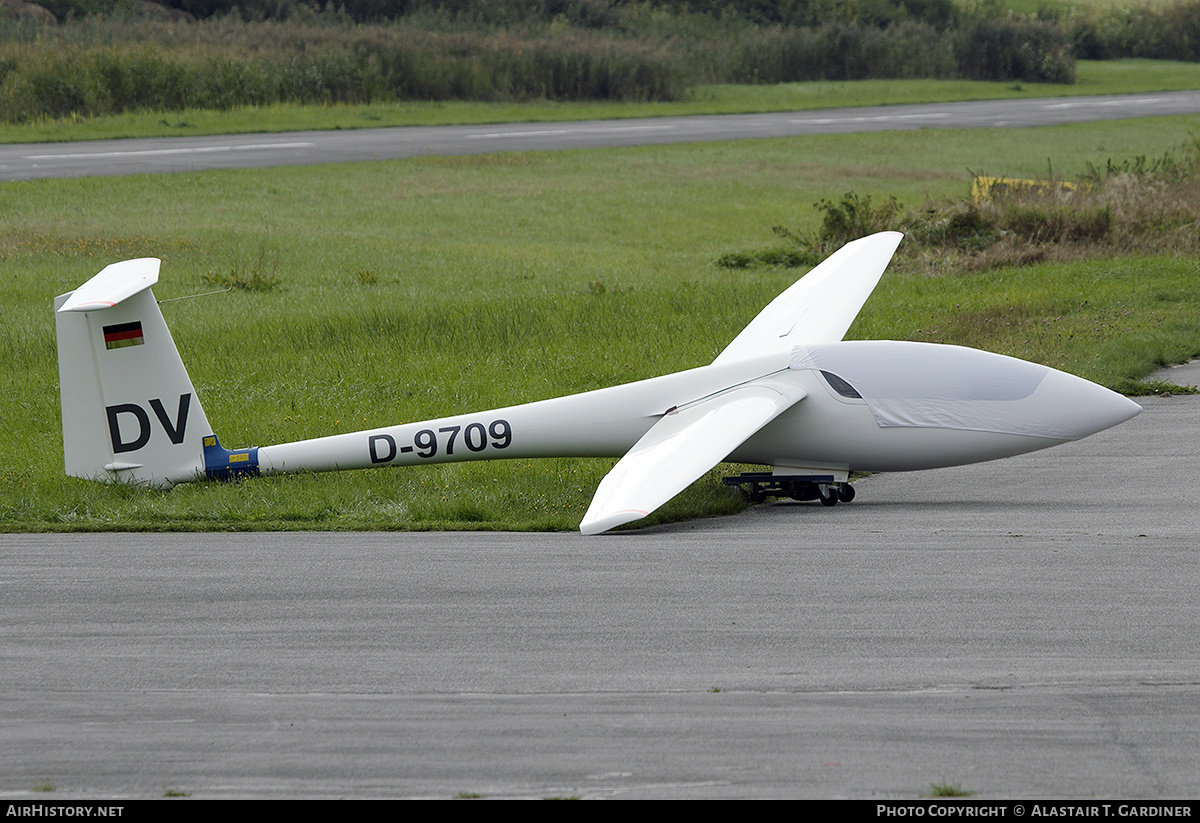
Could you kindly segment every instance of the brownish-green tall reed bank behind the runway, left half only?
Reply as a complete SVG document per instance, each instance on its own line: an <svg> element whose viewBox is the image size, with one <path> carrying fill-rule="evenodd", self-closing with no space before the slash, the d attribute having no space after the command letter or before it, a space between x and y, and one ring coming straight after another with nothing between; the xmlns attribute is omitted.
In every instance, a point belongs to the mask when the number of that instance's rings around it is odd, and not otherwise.
<svg viewBox="0 0 1200 823"><path fill-rule="evenodd" d="M653 43L599 32L518 38L409 26L221 20L0 42L0 120L379 100L677 100L684 72ZM146 37L145 35L157 35Z"/></svg>

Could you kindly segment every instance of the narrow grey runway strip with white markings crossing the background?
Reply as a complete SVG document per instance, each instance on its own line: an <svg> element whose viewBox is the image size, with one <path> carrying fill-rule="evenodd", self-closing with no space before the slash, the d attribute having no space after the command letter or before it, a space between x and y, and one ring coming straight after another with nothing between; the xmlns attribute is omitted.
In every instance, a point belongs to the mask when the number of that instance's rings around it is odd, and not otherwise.
<svg viewBox="0 0 1200 823"><path fill-rule="evenodd" d="M310 166L911 128L1006 128L1200 113L1200 91L584 122L415 126L0 145L0 180Z"/></svg>

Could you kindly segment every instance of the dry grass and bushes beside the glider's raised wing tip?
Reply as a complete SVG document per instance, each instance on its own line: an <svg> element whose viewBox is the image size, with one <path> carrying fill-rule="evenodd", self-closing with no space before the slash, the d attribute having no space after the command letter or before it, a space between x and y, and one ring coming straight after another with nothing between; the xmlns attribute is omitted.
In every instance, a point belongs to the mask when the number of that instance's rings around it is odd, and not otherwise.
<svg viewBox="0 0 1200 823"><path fill-rule="evenodd" d="M876 205L847 192L822 200L815 238L775 227L785 247L731 252L725 268L814 265L844 244L882 232L904 232L900 265L929 271L985 270L1043 260L1075 260L1114 253L1200 252L1200 140L1181 155L1109 161L1076 184L985 186L982 198L928 204L902 211L895 198Z"/></svg>

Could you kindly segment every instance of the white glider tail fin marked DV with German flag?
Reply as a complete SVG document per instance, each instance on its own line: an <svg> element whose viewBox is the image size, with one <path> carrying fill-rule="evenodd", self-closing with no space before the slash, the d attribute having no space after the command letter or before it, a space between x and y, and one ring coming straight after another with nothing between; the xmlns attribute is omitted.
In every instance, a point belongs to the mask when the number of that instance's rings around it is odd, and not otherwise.
<svg viewBox="0 0 1200 823"><path fill-rule="evenodd" d="M156 258L114 263L54 300L66 471L169 487L216 445L150 287Z"/></svg>

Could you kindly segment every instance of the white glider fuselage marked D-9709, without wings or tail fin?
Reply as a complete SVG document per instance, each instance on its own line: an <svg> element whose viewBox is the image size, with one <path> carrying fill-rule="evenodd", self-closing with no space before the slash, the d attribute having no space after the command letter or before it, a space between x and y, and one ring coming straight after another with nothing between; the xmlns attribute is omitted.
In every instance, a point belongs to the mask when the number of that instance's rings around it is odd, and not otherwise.
<svg viewBox="0 0 1200 823"><path fill-rule="evenodd" d="M841 347L860 348L868 354L876 349L880 361L892 364L888 368L893 373L899 372L901 384L919 384L922 373L936 367L938 360L962 353L982 370L980 377L1013 364L1028 367L1032 390L1021 397L990 402L972 396L943 398L968 407L1021 406L1004 409L1002 415L988 416L982 409L983 414L971 420L931 417L910 425L881 425L871 408L876 398L839 394L821 370L790 367L787 355L770 355L522 406L263 446L258 449L259 469L263 474L284 474L473 459L622 457L668 412L756 385L770 385L804 402L791 404L733 447L726 462L839 474L914 471L1012 457L1080 439L1140 410L1128 398L1082 378L977 349L892 341L821 348ZM904 360L887 356L898 349L924 355L907 378ZM854 383L844 378L839 385ZM1015 421L1014 413L1019 414Z"/></svg>

